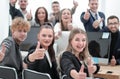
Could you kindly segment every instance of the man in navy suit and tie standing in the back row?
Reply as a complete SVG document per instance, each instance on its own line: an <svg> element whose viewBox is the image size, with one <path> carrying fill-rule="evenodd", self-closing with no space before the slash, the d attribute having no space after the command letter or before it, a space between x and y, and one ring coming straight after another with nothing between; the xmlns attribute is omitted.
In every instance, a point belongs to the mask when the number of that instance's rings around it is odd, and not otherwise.
<svg viewBox="0 0 120 79"><path fill-rule="evenodd" d="M80 16L87 32L98 32L105 27L105 15L98 11L98 5L98 0L89 0L88 6L90 9L87 9Z"/></svg>

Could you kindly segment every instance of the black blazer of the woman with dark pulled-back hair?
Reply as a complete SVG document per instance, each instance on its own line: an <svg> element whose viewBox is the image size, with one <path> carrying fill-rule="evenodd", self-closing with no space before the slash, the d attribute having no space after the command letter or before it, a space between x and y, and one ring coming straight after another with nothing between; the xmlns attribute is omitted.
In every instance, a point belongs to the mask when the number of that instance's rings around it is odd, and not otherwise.
<svg viewBox="0 0 120 79"><path fill-rule="evenodd" d="M28 56L29 56L29 54L31 54L35 51L36 46L32 46L29 49L29 53L24 59L24 62L28 64L28 69L35 70L35 71L42 72L42 73L48 73L48 74L50 74L52 79L59 79L56 61L52 62L52 68L51 68L49 63L48 63L48 60L46 58L46 55L45 55L44 59L36 60L33 63L28 62L29 61Z"/></svg>

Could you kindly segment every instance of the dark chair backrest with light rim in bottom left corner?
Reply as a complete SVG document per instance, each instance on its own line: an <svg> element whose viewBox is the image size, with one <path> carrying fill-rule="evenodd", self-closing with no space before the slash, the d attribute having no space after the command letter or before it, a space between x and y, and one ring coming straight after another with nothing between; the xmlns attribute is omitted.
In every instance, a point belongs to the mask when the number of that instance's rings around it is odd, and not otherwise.
<svg viewBox="0 0 120 79"><path fill-rule="evenodd" d="M0 79L18 79L15 68L0 66Z"/></svg>

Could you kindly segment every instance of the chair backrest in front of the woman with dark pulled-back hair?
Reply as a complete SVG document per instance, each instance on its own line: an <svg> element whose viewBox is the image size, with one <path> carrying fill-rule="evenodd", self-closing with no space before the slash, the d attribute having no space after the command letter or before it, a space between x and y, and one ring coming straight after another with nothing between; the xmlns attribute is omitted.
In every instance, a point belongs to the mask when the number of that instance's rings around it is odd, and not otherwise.
<svg viewBox="0 0 120 79"><path fill-rule="evenodd" d="M30 69L24 69L22 79L51 79L47 73L41 73Z"/></svg>

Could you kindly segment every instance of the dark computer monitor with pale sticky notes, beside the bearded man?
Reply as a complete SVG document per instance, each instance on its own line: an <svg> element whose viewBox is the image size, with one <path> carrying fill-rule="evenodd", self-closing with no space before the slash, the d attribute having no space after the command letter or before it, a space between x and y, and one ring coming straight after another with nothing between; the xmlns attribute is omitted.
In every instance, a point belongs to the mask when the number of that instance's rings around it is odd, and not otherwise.
<svg viewBox="0 0 120 79"><path fill-rule="evenodd" d="M88 49L95 63L107 65L111 34L108 32L87 32Z"/></svg>

